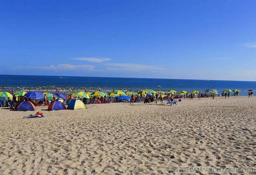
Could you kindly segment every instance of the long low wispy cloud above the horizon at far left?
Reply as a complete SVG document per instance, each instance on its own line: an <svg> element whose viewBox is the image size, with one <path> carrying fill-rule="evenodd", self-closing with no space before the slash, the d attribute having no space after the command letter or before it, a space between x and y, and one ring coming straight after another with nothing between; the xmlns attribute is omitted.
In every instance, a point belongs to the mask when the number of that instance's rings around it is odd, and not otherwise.
<svg viewBox="0 0 256 175"><path fill-rule="evenodd" d="M18 66L13 67L14 69L42 69L42 70L74 70L74 69L94 69L94 65L71 65L71 64L60 64L60 65L49 65L49 66Z"/></svg>

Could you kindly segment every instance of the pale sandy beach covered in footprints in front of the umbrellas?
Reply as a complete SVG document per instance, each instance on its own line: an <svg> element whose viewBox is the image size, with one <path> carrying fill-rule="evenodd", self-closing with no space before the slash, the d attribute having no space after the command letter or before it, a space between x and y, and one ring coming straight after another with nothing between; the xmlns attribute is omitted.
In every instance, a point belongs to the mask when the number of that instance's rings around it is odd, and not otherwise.
<svg viewBox="0 0 256 175"><path fill-rule="evenodd" d="M241 96L186 99L178 106L1 108L0 174L171 175L199 174L177 172L176 167L255 167L255 106L256 98ZM37 111L45 117L22 119Z"/></svg>

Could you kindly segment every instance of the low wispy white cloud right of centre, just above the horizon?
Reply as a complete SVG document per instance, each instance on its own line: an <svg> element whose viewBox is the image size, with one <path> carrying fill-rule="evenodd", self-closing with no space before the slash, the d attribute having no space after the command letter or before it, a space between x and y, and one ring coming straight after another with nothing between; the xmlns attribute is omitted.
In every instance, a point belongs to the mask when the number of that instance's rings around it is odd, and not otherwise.
<svg viewBox="0 0 256 175"><path fill-rule="evenodd" d="M164 70L162 67L156 67L152 65L142 65L142 64L126 64L126 63L111 63L106 64L106 69L108 71L160 71Z"/></svg>

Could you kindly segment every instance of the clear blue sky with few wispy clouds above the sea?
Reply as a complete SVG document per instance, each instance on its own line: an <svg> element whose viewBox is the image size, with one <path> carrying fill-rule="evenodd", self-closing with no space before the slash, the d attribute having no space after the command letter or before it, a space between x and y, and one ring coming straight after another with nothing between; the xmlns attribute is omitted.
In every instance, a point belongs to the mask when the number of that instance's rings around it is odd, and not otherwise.
<svg viewBox="0 0 256 175"><path fill-rule="evenodd" d="M0 74L256 81L255 0L0 2Z"/></svg>

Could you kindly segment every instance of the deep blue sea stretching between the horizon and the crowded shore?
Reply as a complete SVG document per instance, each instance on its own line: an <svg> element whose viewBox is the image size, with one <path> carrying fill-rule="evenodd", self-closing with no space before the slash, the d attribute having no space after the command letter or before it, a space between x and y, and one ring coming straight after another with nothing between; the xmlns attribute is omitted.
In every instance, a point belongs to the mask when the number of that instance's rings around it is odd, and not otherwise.
<svg viewBox="0 0 256 175"><path fill-rule="evenodd" d="M186 80L186 79L142 79L142 78L110 78L110 77L61 77L31 75L0 75L0 87L11 86L57 86L57 87L101 87L104 89L140 90L198 90L216 89L219 94L224 89L239 89L240 95L247 95L248 89L256 89L254 81L217 81L217 80ZM161 85L158 88L157 85Z"/></svg>

